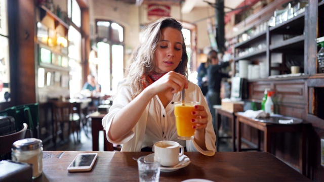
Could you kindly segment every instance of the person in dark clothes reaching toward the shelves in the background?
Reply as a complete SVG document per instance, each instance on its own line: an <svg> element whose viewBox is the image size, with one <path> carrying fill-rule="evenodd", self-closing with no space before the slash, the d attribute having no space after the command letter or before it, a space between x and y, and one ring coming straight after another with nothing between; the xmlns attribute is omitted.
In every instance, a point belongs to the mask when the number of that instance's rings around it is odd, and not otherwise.
<svg viewBox="0 0 324 182"><path fill-rule="evenodd" d="M207 55L207 76L208 76L208 92L207 92L207 102L209 110L213 117L213 126L215 126L215 109L213 108L214 105L221 105L221 82L222 78L229 77L229 74L222 73L222 68L229 66L233 60L228 62L220 63L218 59L218 54L215 50L212 50ZM219 124L220 125L220 124Z"/></svg>

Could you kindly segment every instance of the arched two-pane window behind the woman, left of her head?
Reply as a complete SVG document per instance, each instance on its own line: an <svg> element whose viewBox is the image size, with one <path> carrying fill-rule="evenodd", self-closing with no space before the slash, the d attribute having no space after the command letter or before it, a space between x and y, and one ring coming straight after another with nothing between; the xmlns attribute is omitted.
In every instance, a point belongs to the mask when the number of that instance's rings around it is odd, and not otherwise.
<svg viewBox="0 0 324 182"><path fill-rule="evenodd" d="M96 20L98 83L101 93L113 94L124 77L124 28L119 24Z"/></svg>

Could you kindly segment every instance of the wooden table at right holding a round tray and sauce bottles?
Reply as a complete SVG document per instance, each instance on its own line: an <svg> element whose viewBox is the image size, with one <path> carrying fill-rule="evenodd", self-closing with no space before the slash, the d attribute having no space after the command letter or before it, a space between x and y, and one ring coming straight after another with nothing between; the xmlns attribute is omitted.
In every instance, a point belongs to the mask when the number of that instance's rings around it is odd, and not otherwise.
<svg viewBox="0 0 324 182"><path fill-rule="evenodd" d="M272 124L256 121L254 118L249 118L235 113L236 115L236 137L237 137L237 151L241 151L241 123L247 124L260 131L263 131L263 145L264 151L271 153L271 134L277 132L300 132L300 147L299 147L299 170L301 173L306 173L306 124ZM260 134L259 134L258 150L260 150Z"/></svg>

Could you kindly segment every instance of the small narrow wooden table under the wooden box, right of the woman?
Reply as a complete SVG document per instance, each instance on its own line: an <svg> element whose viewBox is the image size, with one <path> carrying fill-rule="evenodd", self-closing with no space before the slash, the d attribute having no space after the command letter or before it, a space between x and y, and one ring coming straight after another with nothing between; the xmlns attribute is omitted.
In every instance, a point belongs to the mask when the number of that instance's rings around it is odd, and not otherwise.
<svg viewBox="0 0 324 182"><path fill-rule="evenodd" d="M215 133L216 133L216 149L217 151L219 151L219 139L228 139L231 138L232 139L232 150L233 152L236 151L236 147L235 147L235 119L236 116L234 113L232 112L228 112L226 110L223 110L221 107L221 105L214 105L213 106L215 109L215 116L216 116L216 120L215 120ZM225 116L229 119L229 121L231 122L232 125L232 135L231 136L219 136L219 132L218 132L218 125L220 124L221 121L221 116Z"/></svg>

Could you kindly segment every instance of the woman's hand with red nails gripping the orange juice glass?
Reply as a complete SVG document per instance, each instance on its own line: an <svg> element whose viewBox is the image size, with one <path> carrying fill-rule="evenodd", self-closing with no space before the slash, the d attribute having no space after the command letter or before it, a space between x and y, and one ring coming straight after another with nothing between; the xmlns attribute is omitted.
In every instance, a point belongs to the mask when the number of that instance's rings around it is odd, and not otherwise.
<svg viewBox="0 0 324 182"><path fill-rule="evenodd" d="M204 131L208 123L208 114L206 109L201 105L195 105L194 109L195 110L191 114L192 116L195 116L195 118L192 118L191 122L196 123L196 125L194 125L193 128L197 131Z"/></svg>

